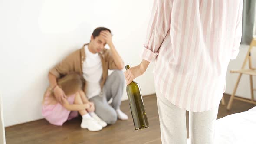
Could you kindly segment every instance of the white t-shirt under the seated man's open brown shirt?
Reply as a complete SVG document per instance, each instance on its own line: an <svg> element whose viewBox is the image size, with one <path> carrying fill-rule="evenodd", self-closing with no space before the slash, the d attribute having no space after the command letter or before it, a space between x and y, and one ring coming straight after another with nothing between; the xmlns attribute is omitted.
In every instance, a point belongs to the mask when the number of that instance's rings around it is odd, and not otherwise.
<svg viewBox="0 0 256 144"><path fill-rule="evenodd" d="M83 77L86 81L86 96L88 99L101 92L102 62L98 53L94 54L85 46L85 61L82 65Z"/></svg>

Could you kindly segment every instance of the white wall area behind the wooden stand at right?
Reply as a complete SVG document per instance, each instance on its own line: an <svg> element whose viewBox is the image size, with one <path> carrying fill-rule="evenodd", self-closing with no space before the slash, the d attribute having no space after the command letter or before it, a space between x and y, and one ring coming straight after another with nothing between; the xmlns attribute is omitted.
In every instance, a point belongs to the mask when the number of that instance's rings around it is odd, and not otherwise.
<svg viewBox="0 0 256 144"><path fill-rule="evenodd" d="M235 87L238 73L230 73L231 69L241 69L243 65L243 61L246 57L246 53L249 49L248 45L241 45L240 52L236 59L231 60L228 66L227 75L226 75L226 92L227 94L232 94L233 89ZM253 47L252 52L252 65L256 68L256 47ZM246 69L249 69L249 63L246 63ZM250 91L250 83L249 83L249 75L242 75L238 88L236 90L236 95L243 97L243 98L251 98L251 91ZM256 88L256 78L253 77L253 84L254 88ZM256 91L254 91L256 97ZM227 101L226 101L227 102Z"/></svg>

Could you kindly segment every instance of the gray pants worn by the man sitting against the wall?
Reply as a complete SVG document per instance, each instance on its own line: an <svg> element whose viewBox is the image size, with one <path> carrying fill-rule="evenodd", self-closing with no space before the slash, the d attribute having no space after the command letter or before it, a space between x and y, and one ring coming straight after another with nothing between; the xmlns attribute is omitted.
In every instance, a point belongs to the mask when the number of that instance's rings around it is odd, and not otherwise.
<svg viewBox="0 0 256 144"><path fill-rule="evenodd" d="M125 86L125 75L121 70L114 70L108 76L103 87L103 95L89 99L95 105L95 113L107 124L114 124L117 121L116 109L120 108L121 98ZM112 98L112 103L108 101Z"/></svg>

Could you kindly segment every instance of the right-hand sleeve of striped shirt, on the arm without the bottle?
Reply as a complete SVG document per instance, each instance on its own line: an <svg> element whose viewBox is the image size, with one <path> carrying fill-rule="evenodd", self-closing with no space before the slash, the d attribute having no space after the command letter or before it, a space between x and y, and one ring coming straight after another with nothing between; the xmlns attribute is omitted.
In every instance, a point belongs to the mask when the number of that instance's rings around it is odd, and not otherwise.
<svg viewBox="0 0 256 144"><path fill-rule="evenodd" d="M230 59L236 59L239 53L239 47L242 38L242 14L243 14L243 0L240 0L240 6L238 10L238 17L236 23L235 39L232 46L232 52Z"/></svg>

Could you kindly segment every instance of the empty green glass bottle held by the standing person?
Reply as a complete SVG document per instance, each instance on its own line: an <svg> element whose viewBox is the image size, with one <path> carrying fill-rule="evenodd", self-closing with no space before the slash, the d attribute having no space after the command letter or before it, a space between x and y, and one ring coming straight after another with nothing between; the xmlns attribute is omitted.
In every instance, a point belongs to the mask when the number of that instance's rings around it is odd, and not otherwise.
<svg viewBox="0 0 256 144"><path fill-rule="evenodd" d="M129 65L125 66L126 70L129 68ZM145 112L140 86L138 83L132 81L129 85L126 86L126 92L131 108L131 115L135 130L148 128L148 118Z"/></svg>

